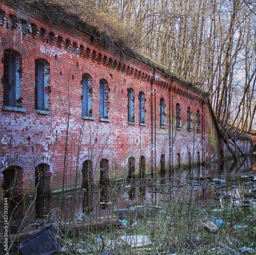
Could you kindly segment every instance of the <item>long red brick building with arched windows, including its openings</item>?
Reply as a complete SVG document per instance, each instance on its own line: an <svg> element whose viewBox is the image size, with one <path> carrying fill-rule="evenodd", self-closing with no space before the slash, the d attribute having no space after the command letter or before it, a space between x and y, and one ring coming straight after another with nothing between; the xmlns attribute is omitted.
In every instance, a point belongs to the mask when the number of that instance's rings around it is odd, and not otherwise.
<svg viewBox="0 0 256 255"><path fill-rule="evenodd" d="M202 89L82 27L54 26L35 6L0 3L1 194L220 159Z"/></svg>

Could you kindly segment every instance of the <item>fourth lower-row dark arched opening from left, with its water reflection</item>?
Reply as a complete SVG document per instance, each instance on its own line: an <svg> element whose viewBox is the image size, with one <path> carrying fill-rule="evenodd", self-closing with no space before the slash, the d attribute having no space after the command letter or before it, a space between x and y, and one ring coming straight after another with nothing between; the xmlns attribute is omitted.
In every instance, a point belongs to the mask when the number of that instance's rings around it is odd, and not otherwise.
<svg viewBox="0 0 256 255"><path fill-rule="evenodd" d="M100 161L100 207L105 209L109 202L109 160Z"/></svg>

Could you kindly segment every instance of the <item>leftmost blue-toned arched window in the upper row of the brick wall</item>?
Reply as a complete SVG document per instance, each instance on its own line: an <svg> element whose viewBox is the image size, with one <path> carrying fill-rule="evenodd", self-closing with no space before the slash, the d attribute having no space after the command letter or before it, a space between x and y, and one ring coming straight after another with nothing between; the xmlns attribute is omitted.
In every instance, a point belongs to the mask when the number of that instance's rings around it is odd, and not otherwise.
<svg viewBox="0 0 256 255"><path fill-rule="evenodd" d="M14 50L4 51L3 105L22 107L22 55Z"/></svg>

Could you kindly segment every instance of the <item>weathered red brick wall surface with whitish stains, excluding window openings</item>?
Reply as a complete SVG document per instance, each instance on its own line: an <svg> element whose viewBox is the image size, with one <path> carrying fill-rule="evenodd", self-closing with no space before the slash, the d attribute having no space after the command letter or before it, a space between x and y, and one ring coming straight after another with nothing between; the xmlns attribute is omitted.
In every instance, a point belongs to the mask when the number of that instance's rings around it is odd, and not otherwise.
<svg viewBox="0 0 256 255"><path fill-rule="evenodd" d="M93 163L94 181L99 180L99 162L109 160L110 178L127 176L128 159L135 157L136 173L139 159L146 160L146 172L160 171L160 157L165 155L166 171L177 165L201 163L220 158L218 129L214 122L207 95L176 76L167 76L128 55L118 55L102 48L99 41L83 31L53 27L33 15L1 1L0 59L4 51L13 49L22 55L22 108L3 108L0 116L1 171L10 166L22 168L23 189L34 189L35 167L50 166L51 191L72 189L81 185L84 160ZM10 15L26 20L31 29L22 30L9 24ZM4 19L5 17L5 19ZM35 59L50 64L50 94L48 114L35 112ZM3 77L4 63L0 63ZM82 75L92 77L92 117L83 119ZM110 122L99 118L99 81L109 87ZM135 125L128 124L127 89L135 91ZM139 92L145 94L145 126L139 125ZM3 105L4 86L0 86ZM165 128L160 127L160 99L165 101ZM180 130L176 129L176 104L180 104ZM191 109L191 131L187 131L187 107ZM197 110L200 111L200 132L197 131ZM0 183L3 175L0 174ZM0 187L2 184L0 185ZM3 192L3 189L1 189Z"/></svg>

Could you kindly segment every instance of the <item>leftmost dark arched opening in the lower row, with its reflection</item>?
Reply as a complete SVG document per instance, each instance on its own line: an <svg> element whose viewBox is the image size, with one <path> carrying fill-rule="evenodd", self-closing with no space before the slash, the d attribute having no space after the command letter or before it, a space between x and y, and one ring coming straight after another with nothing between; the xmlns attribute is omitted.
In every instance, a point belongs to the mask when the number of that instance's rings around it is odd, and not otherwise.
<svg viewBox="0 0 256 255"><path fill-rule="evenodd" d="M3 172L4 198L8 200L8 221L23 217L22 168L11 166Z"/></svg>

